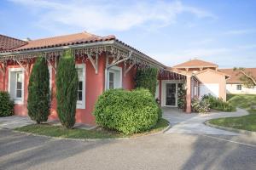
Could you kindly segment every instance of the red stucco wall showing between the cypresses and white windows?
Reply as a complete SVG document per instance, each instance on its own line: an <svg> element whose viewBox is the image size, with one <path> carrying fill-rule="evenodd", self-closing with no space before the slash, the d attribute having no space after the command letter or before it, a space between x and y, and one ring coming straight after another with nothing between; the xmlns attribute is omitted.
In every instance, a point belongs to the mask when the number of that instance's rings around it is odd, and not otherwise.
<svg viewBox="0 0 256 170"><path fill-rule="evenodd" d="M81 60L76 61L77 64L81 64ZM105 54L102 54L99 57L98 61L98 74L96 74L95 69L90 63L90 60L87 59L84 61L85 64L85 109L77 109L76 112L76 122L83 122L86 124L95 124L95 117L92 115L94 105L96 103L96 99L100 94L103 93L105 88L105 68L106 68L106 57ZM120 64L118 66L123 67L123 64ZM0 72L0 89L8 91L8 73L9 68L13 67L20 67L19 65L14 65L13 63L9 63L8 69L6 69L6 76L5 79L3 78L2 72ZM125 71L123 69L123 88L125 89L132 89L134 88L134 77L136 74L136 69L132 68L131 71L129 71L125 76ZM23 105L15 105L15 115L19 116L27 116L27 109L26 109L26 100L27 100L27 86L29 82L29 76L25 72L25 80L24 80L24 104ZM5 82L4 82L5 81ZM52 102L51 102L51 109L50 109L50 120L57 119L57 112L56 112L56 99L55 99L55 93L56 93L56 87L55 87L55 71L52 70Z"/></svg>

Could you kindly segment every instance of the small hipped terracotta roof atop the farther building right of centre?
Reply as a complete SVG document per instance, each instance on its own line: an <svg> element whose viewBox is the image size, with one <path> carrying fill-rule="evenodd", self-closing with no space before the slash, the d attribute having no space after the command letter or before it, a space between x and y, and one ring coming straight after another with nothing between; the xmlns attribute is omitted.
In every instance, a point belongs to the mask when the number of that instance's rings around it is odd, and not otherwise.
<svg viewBox="0 0 256 170"><path fill-rule="evenodd" d="M173 66L174 68L199 68L199 67L218 67L214 63L203 61L201 59L192 59L179 65Z"/></svg>

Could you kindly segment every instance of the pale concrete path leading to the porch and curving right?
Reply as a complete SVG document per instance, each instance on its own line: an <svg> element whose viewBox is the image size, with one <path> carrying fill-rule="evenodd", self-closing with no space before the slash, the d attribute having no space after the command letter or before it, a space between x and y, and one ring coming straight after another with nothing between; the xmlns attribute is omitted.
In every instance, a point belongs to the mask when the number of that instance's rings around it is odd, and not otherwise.
<svg viewBox="0 0 256 170"><path fill-rule="evenodd" d="M237 135L224 130L220 130L213 127L206 126L203 122L219 118L230 116L244 116L247 115L247 111L237 109L236 112L218 112L209 114L191 113L186 114L175 109L164 108L164 118L166 118L172 124L166 133L191 133L191 134L225 134L225 135Z"/></svg>

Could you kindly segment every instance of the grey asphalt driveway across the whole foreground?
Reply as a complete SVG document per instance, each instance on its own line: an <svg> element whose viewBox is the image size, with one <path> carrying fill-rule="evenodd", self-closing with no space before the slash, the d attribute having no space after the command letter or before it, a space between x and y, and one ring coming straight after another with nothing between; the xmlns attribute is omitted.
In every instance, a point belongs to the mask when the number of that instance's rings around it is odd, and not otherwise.
<svg viewBox="0 0 256 170"><path fill-rule="evenodd" d="M256 139L164 133L137 139L73 141L0 130L0 169L247 169Z"/></svg>

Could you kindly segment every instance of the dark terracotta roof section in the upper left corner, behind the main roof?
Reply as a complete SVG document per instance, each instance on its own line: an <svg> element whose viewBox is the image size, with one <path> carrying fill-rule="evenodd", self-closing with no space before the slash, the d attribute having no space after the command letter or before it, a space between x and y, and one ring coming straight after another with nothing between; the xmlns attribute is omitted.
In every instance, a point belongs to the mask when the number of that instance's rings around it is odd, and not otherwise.
<svg viewBox="0 0 256 170"><path fill-rule="evenodd" d="M13 38L7 37L0 34L0 52L7 51L14 48L19 48L20 46L26 45L27 42Z"/></svg>

